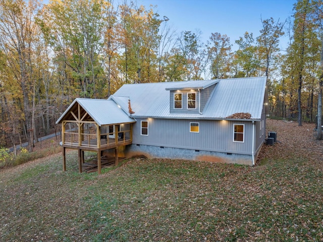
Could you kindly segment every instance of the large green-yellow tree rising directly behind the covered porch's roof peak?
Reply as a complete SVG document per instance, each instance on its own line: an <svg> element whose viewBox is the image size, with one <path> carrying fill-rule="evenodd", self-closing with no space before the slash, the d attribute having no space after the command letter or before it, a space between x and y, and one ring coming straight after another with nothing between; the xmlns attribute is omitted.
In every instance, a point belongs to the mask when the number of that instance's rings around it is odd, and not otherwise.
<svg viewBox="0 0 323 242"><path fill-rule="evenodd" d="M63 76L76 80L68 88L84 98L96 95L98 80L103 78L99 57L103 46L102 12L105 6L109 3L103 0L53 0L38 18Z"/></svg>

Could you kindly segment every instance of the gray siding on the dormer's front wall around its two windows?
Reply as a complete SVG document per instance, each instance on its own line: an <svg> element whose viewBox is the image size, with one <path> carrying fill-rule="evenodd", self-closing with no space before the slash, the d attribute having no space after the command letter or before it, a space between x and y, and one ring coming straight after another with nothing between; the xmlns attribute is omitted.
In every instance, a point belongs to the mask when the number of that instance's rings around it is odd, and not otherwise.
<svg viewBox="0 0 323 242"><path fill-rule="evenodd" d="M187 93L196 93L196 109L187 109ZM182 93L182 109L174 109L174 93ZM170 113L171 114L198 114L199 93L198 90L170 91Z"/></svg>

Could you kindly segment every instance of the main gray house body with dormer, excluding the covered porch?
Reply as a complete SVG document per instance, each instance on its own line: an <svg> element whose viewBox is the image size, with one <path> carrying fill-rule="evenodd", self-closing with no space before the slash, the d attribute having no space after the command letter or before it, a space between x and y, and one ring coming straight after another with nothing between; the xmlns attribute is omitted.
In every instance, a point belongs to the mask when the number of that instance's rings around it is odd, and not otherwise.
<svg viewBox="0 0 323 242"><path fill-rule="evenodd" d="M136 123L120 155L252 166L265 140L265 83L255 77L124 85L110 100L125 112L130 100Z"/></svg>

